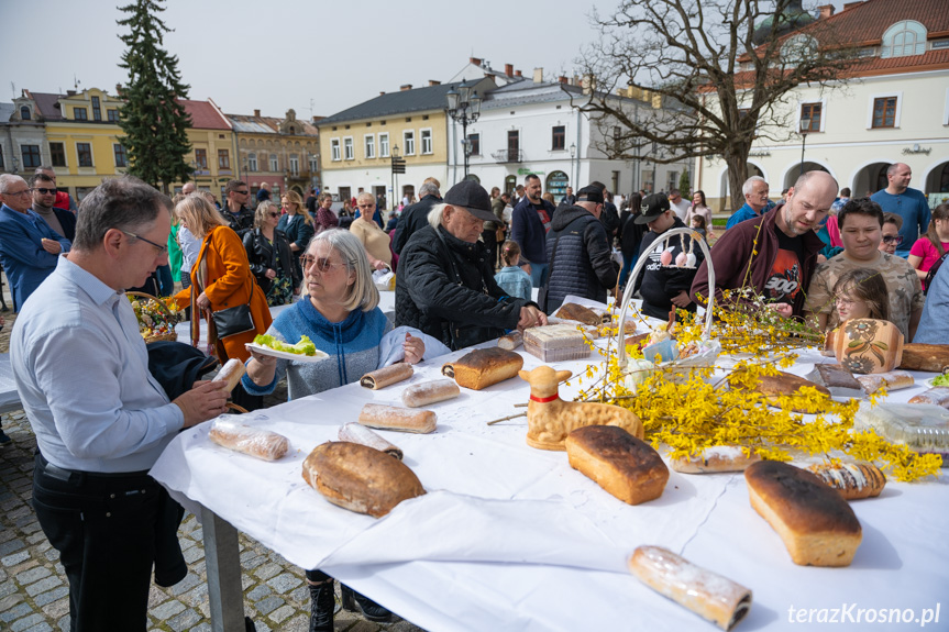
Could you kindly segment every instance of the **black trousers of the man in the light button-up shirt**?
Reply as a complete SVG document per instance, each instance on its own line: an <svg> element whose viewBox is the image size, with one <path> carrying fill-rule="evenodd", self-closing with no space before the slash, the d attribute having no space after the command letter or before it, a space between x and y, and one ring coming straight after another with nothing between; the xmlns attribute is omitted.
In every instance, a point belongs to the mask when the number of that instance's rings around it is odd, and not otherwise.
<svg viewBox="0 0 949 632"><path fill-rule="evenodd" d="M162 586L187 574L177 547L184 511L147 473L69 472L37 452L33 508L69 579L71 632L144 632L152 565Z"/></svg>

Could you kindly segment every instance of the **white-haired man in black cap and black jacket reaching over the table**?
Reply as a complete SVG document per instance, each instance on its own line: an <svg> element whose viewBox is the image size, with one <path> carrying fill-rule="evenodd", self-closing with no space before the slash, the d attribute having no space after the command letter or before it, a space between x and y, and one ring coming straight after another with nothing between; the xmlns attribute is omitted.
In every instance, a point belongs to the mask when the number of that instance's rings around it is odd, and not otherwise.
<svg viewBox="0 0 949 632"><path fill-rule="evenodd" d="M449 189L399 256L396 326L413 326L459 350L547 324L536 303L507 296L494 280L494 262L478 236L484 222L496 219L477 182Z"/></svg>

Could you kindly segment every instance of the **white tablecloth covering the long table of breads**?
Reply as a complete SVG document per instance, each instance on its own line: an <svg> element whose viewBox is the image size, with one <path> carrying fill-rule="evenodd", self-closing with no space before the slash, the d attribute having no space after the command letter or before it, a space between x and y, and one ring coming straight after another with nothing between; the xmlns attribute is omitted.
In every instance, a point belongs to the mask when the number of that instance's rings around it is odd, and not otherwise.
<svg viewBox="0 0 949 632"><path fill-rule="evenodd" d="M742 630L802 628L788 622L790 608L856 603L918 617L946 596L945 480L890 483L880 498L853 502L863 525L853 564L801 567L751 509L741 474L671 472L661 498L630 507L573 470L565 453L528 447L526 420L486 425L522 410L512 404L529 389L518 378L433 406L433 434L380 432L429 492L384 519L330 505L302 481L307 454L334 440L364 403L398 404L404 386L440 377L446 358L379 391L350 385L252 413L249 423L290 439L279 462L213 445L202 424L183 432L152 475L291 563L321 567L428 630L713 630L626 572L640 544L666 546L750 587L754 606ZM804 356L794 372L806 374L815 361ZM526 369L540 364L525 354ZM586 363L556 366L578 372ZM563 396L577 391L571 384ZM905 401L920 389L891 397ZM946 621L949 608L927 629Z"/></svg>

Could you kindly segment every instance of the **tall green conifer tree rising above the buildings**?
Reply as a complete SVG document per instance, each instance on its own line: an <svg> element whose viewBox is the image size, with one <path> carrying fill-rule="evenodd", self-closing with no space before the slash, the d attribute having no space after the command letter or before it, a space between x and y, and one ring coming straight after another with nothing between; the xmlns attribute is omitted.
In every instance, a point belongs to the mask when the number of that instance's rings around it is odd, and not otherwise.
<svg viewBox="0 0 949 632"><path fill-rule="evenodd" d="M128 14L119 25L129 27L119 35L128 46L119 64L129 70L119 126L125 132L129 173L168 192L169 185L185 182L191 174L185 162L191 121L177 101L188 98L189 86L181 82L178 56L162 47L170 31L158 18L165 10L162 0L134 0L119 10Z"/></svg>

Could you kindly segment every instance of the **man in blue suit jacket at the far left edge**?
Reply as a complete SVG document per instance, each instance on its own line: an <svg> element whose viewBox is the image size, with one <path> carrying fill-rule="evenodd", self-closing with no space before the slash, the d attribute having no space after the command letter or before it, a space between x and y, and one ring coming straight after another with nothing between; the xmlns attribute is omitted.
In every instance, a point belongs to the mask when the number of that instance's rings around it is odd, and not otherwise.
<svg viewBox="0 0 949 632"><path fill-rule="evenodd" d="M0 263L10 281L13 310L20 311L71 243L30 209L32 190L20 176L0 175Z"/></svg>

